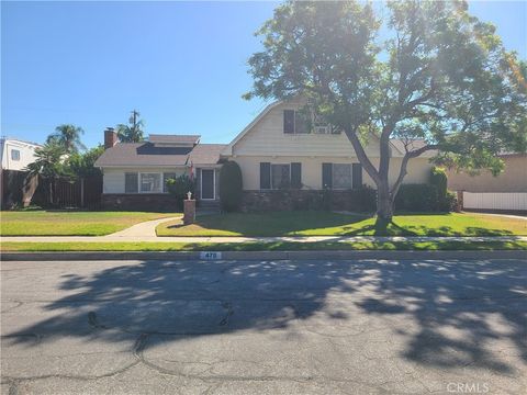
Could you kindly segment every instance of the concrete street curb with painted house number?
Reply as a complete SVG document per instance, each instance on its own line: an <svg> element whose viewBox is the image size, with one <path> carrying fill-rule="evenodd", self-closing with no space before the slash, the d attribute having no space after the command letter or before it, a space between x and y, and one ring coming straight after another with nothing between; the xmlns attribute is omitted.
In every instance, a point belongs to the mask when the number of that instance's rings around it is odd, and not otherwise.
<svg viewBox="0 0 527 395"><path fill-rule="evenodd" d="M213 252L213 253L211 253ZM494 251L77 251L77 252L2 252L2 261L91 261L91 260L345 260L345 259L523 259L525 250Z"/></svg>

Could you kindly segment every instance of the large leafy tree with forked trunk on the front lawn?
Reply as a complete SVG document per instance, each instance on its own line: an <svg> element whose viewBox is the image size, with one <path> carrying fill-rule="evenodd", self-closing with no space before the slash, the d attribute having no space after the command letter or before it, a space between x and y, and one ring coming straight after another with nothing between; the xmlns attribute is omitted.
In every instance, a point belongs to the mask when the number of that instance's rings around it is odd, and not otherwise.
<svg viewBox="0 0 527 395"><path fill-rule="evenodd" d="M464 1L390 2L385 11L382 21L355 1L278 7L257 32L264 50L249 59L255 82L245 95L305 97L344 131L377 185L384 223L412 158L438 150L451 166L498 172L501 151L527 146L526 66L491 24ZM373 138L378 162L365 150ZM392 138L405 155L390 183Z"/></svg>

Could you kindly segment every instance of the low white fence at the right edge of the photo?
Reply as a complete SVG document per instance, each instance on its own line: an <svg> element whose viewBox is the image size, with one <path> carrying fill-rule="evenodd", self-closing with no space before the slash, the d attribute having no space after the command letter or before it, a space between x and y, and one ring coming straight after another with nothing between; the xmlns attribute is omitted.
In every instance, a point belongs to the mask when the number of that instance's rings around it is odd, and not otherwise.
<svg viewBox="0 0 527 395"><path fill-rule="evenodd" d="M463 192L463 208L527 211L527 192Z"/></svg>

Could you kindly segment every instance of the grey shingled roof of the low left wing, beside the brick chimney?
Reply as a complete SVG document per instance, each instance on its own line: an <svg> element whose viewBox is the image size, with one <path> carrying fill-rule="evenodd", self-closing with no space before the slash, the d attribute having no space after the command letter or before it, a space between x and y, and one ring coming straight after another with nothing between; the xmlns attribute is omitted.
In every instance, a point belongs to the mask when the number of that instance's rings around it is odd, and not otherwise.
<svg viewBox="0 0 527 395"><path fill-rule="evenodd" d="M198 144L194 147L159 147L147 143L117 143L96 161L97 167L182 167L190 160L198 165L215 165L223 144Z"/></svg>

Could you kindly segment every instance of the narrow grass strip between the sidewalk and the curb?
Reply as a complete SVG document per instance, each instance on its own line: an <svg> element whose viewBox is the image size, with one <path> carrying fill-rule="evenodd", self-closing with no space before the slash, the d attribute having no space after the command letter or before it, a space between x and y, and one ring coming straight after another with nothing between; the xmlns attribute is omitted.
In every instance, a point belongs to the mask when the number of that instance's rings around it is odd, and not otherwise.
<svg viewBox="0 0 527 395"><path fill-rule="evenodd" d="M527 250L527 241L2 242L5 251Z"/></svg>

